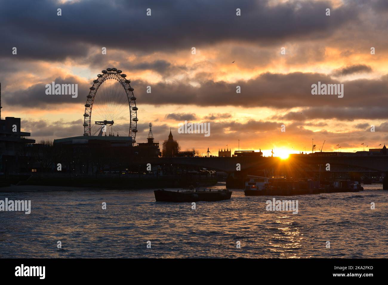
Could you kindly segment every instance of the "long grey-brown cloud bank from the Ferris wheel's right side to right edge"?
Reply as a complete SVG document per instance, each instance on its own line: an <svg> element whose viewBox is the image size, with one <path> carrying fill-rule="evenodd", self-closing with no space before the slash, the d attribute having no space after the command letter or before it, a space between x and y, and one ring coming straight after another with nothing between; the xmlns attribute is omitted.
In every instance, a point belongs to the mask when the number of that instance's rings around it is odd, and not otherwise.
<svg viewBox="0 0 388 285"><path fill-rule="evenodd" d="M311 85L344 84L344 97L337 95L312 95ZM319 73L264 73L248 81L207 80L192 86L184 82L150 84L152 93L140 97L147 104L197 104L201 106L235 105L243 107L274 107L277 109L293 107L388 107L387 76L380 79L357 79L338 81ZM146 89L145 82L133 83L139 92ZM236 86L241 86L241 93L236 93ZM139 101L140 102L140 101ZM359 114L362 116L362 114Z"/></svg>

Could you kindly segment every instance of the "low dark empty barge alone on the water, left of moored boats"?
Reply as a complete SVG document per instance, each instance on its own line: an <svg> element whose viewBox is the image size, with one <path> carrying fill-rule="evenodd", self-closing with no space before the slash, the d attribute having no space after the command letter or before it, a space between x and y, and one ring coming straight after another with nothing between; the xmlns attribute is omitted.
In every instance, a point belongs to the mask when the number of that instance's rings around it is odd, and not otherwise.
<svg viewBox="0 0 388 285"><path fill-rule="evenodd" d="M228 189L212 190L207 188L184 188L182 191L167 191L159 189L154 191L156 202L198 202L229 200L232 191Z"/></svg>

